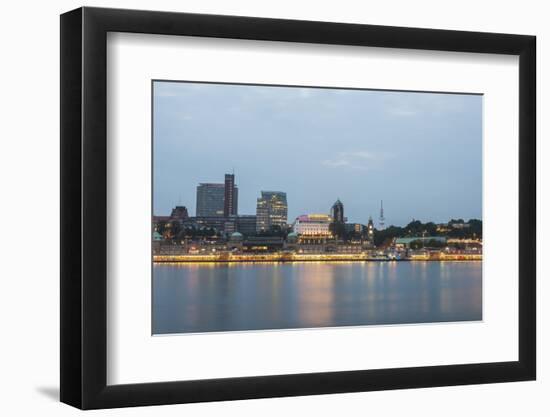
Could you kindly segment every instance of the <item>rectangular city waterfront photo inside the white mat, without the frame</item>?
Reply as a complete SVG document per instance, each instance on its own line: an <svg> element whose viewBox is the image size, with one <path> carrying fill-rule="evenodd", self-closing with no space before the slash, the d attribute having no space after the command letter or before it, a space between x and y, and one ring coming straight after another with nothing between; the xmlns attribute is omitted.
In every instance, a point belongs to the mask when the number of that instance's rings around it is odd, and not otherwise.
<svg viewBox="0 0 550 417"><path fill-rule="evenodd" d="M482 320L482 99L154 81L152 333Z"/></svg>

